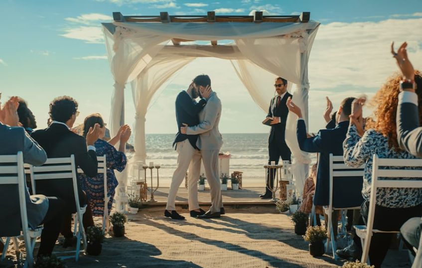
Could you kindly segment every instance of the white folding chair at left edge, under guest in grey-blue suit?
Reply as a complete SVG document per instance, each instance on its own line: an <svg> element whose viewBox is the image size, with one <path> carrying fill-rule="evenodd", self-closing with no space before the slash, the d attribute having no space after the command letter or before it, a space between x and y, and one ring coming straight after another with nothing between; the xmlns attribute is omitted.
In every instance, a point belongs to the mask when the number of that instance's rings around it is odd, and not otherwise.
<svg viewBox="0 0 422 268"><path fill-rule="evenodd" d="M33 251L35 247L35 241L37 237L41 236L43 227L39 226L35 230L32 230L28 225L28 215L26 213L26 198L25 198L25 176L23 170L23 154L21 151L17 155L0 155L0 163L4 164L0 166L0 174L7 174L6 176L0 177L0 184L17 184L19 193L19 208L20 208L20 220L22 224L23 241L25 242L26 259L24 267L32 267L34 263ZM4 205L4 204L3 204ZM7 237L6 241L1 242L4 244L4 249L1 255L1 260L4 260L6 252L12 239L16 255L19 257L19 247L17 244L16 237Z"/></svg>

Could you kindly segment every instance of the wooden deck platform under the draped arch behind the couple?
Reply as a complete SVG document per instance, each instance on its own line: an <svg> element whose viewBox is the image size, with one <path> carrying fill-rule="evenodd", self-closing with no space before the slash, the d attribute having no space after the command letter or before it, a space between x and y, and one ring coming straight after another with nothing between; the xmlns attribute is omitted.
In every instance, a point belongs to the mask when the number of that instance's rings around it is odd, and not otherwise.
<svg viewBox="0 0 422 268"><path fill-rule="evenodd" d="M165 205L167 203L168 191L170 188L158 188L154 193L155 203L146 203L146 205ZM270 199L261 199L259 195L264 192L264 187L256 188L242 188L239 190L227 189L221 191L223 195L223 203L225 205L274 205ZM279 193L276 194L279 197ZM150 199L150 192L148 191L148 200ZM187 189L179 188L176 197L176 205L187 205ZM200 205L210 205L211 196L210 190L198 191L198 200Z"/></svg>

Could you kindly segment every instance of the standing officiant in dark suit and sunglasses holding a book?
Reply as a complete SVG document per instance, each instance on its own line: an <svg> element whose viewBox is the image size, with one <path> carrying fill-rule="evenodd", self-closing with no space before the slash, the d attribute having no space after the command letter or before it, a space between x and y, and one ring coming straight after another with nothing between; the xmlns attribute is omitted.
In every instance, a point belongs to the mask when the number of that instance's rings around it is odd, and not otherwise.
<svg viewBox="0 0 422 268"><path fill-rule="evenodd" d="M287 80L281 77L276 78L274 87L276 88L277 96L271 100L267 115L267 118L273 119L271 121L270 136L268 137L268 164L271 164L271 161L275 161L278 164L280 157L282 160L290 161L291 156L290 149L284 140L285 124L288 114L285 104L287 98L291 97L291 94L287 92ZM262 199L272 197L269 187L273 189L275 175L274 172L271 172L271 174L269 171L267 172L267 187L265 188L265 193L260 195Z"/></svg>

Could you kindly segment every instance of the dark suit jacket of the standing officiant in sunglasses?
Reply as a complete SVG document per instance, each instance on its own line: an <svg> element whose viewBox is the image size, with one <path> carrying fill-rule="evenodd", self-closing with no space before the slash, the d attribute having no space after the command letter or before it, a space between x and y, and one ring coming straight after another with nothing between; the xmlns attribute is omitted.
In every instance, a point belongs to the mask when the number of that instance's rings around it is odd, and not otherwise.
<svg viewBox="0 0 422 268"><path fill-rule="evenodd" d="M291 94L286 92L280 101L280 105L277 106L277 97L271 99L270 108L268 109L267 117L280 117L281 122L271 126L270 136L268 137L268 143L271 143L274 138L284 141L285 134L285 123L287 121L288 109L286 106L287 98L291 97Z"/></svg>

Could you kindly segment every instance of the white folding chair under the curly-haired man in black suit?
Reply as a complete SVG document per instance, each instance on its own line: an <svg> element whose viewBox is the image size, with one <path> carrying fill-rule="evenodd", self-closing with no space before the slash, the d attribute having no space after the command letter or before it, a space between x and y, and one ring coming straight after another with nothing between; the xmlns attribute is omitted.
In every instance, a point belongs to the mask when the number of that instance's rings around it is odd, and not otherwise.
<svg viewBox="0 0 422 268"><path fill-rule="evenodd" d="M81 207L79 203L79 194L78 194L78 181L76 177L76 166L75 166L75 156L72 154L70 157L63 158L48 158L47 161L42 166L31 166L31 181L32 189L35 194L36 190L36 181L39 180L54 180L54 179L72 179L73 181L73 192L75 196L75 205L76 205L76 215L77 220L75 221L75 226L77 226L76 234L76 250L75 251L64 251L56 252L56 255L59 254L69 254L75 253L75 260L79 260L79 254L85 252L87 246L87 239L82 223L82 215L86 211L86 205ZM83 250L81 250L81 237L83 240ZM61 259L73 258L72 256L59 256Z"/></svg>

